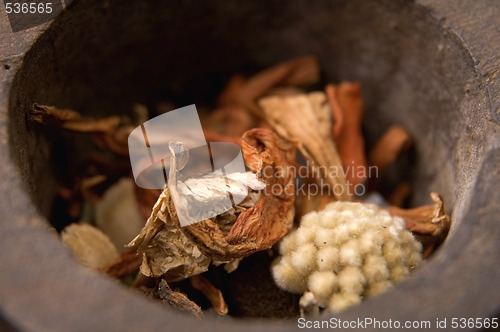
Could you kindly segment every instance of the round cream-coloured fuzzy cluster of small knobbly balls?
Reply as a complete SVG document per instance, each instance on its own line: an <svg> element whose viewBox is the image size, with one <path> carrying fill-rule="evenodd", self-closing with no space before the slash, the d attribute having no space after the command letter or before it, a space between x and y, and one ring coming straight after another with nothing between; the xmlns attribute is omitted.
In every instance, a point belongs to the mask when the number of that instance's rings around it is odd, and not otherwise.
<svg viewBox="0 0 500 332"><path fill-rule="evenodd" d="M272 274L279 287L309 290L320 306L339 312L404 279L421 251L401 218L371 204L335 202L305 215L283 238Z"/></svg>

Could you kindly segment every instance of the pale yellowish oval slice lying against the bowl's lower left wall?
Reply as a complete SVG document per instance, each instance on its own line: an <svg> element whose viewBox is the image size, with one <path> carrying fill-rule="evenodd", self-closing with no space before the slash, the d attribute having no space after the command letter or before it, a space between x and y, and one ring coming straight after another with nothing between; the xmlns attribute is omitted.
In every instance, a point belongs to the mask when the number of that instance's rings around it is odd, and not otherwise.
<svg viewBox="0 0 500 332"><path fill-rule="evenodd" d="M89 224L71 224L61 234L63 243L83 264L103 269L118 258L118 251L110 239Z"/></svg>

